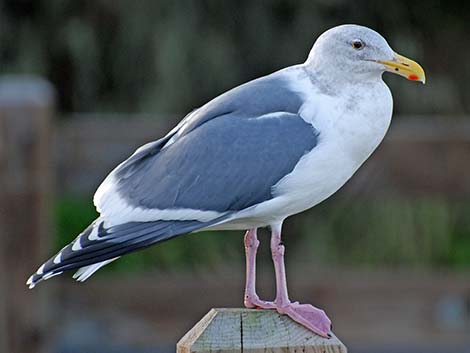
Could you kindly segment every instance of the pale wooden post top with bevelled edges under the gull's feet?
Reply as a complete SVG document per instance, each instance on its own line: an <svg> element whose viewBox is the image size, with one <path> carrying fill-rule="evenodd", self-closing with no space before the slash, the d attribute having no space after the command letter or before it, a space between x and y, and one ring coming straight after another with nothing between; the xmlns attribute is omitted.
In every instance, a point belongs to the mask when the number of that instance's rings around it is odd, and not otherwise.
<svg viewBox="0 0 470 353"><path fill-rule="evenodd" d="M176 345L177 353L347 353L274 310L212 309Z"/></svg>

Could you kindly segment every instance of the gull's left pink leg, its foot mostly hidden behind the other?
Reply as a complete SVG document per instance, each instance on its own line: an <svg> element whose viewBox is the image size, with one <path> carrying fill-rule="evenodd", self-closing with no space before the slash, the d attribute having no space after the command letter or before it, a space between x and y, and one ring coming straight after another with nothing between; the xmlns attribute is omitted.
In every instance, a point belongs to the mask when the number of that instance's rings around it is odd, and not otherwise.
<svg viewBox="0 0 470 353"><path fill-rule="evenodd" d="M246 285L244 303L247 308L274 309L276 307L274 303L260 300L256 294L256 251L258 246L256 228L248 230L245 234Z"/></svg>

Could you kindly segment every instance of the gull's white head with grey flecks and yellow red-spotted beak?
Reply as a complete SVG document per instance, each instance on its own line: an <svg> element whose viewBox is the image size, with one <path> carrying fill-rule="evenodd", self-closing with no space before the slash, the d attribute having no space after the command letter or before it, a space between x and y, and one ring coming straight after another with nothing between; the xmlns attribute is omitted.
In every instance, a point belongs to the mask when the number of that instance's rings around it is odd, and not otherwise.
<svg viewBox="0 0 470 353"><path fill-rule="evenodd" d="M409 80L425 81L419 64L396 54L379 33L358 25L337 26L324 32L305 64L323 80L376 81L384 71L390 71Z"/></svg>

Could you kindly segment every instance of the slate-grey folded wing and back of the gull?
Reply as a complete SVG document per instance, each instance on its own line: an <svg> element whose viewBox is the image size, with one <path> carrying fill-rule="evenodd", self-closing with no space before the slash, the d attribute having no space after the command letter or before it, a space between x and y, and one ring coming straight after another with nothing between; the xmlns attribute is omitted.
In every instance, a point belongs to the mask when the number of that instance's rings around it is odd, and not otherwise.
<svg viewBox="0 0 470 353"><path fill-rule="evenodd" d="M301 103L276 74L237 87L124 162L114 190L144 209L226 212L269 200L318 141Z"/></svg>

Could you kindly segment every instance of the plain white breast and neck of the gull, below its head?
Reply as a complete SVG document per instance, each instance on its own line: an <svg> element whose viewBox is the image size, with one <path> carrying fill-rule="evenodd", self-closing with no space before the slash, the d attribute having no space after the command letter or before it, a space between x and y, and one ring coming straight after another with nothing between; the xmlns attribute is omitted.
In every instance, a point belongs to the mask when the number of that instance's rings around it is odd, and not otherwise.
<svg viewBox="0 0 470 353"><path fill-rule="evenodd" d="M393 101L380 79L321 95L304 89L301 116L320 131L318 145L275 186L286 196L289 212L297 213L325 200L343 186L383 140L390 125Z"/></svg>

